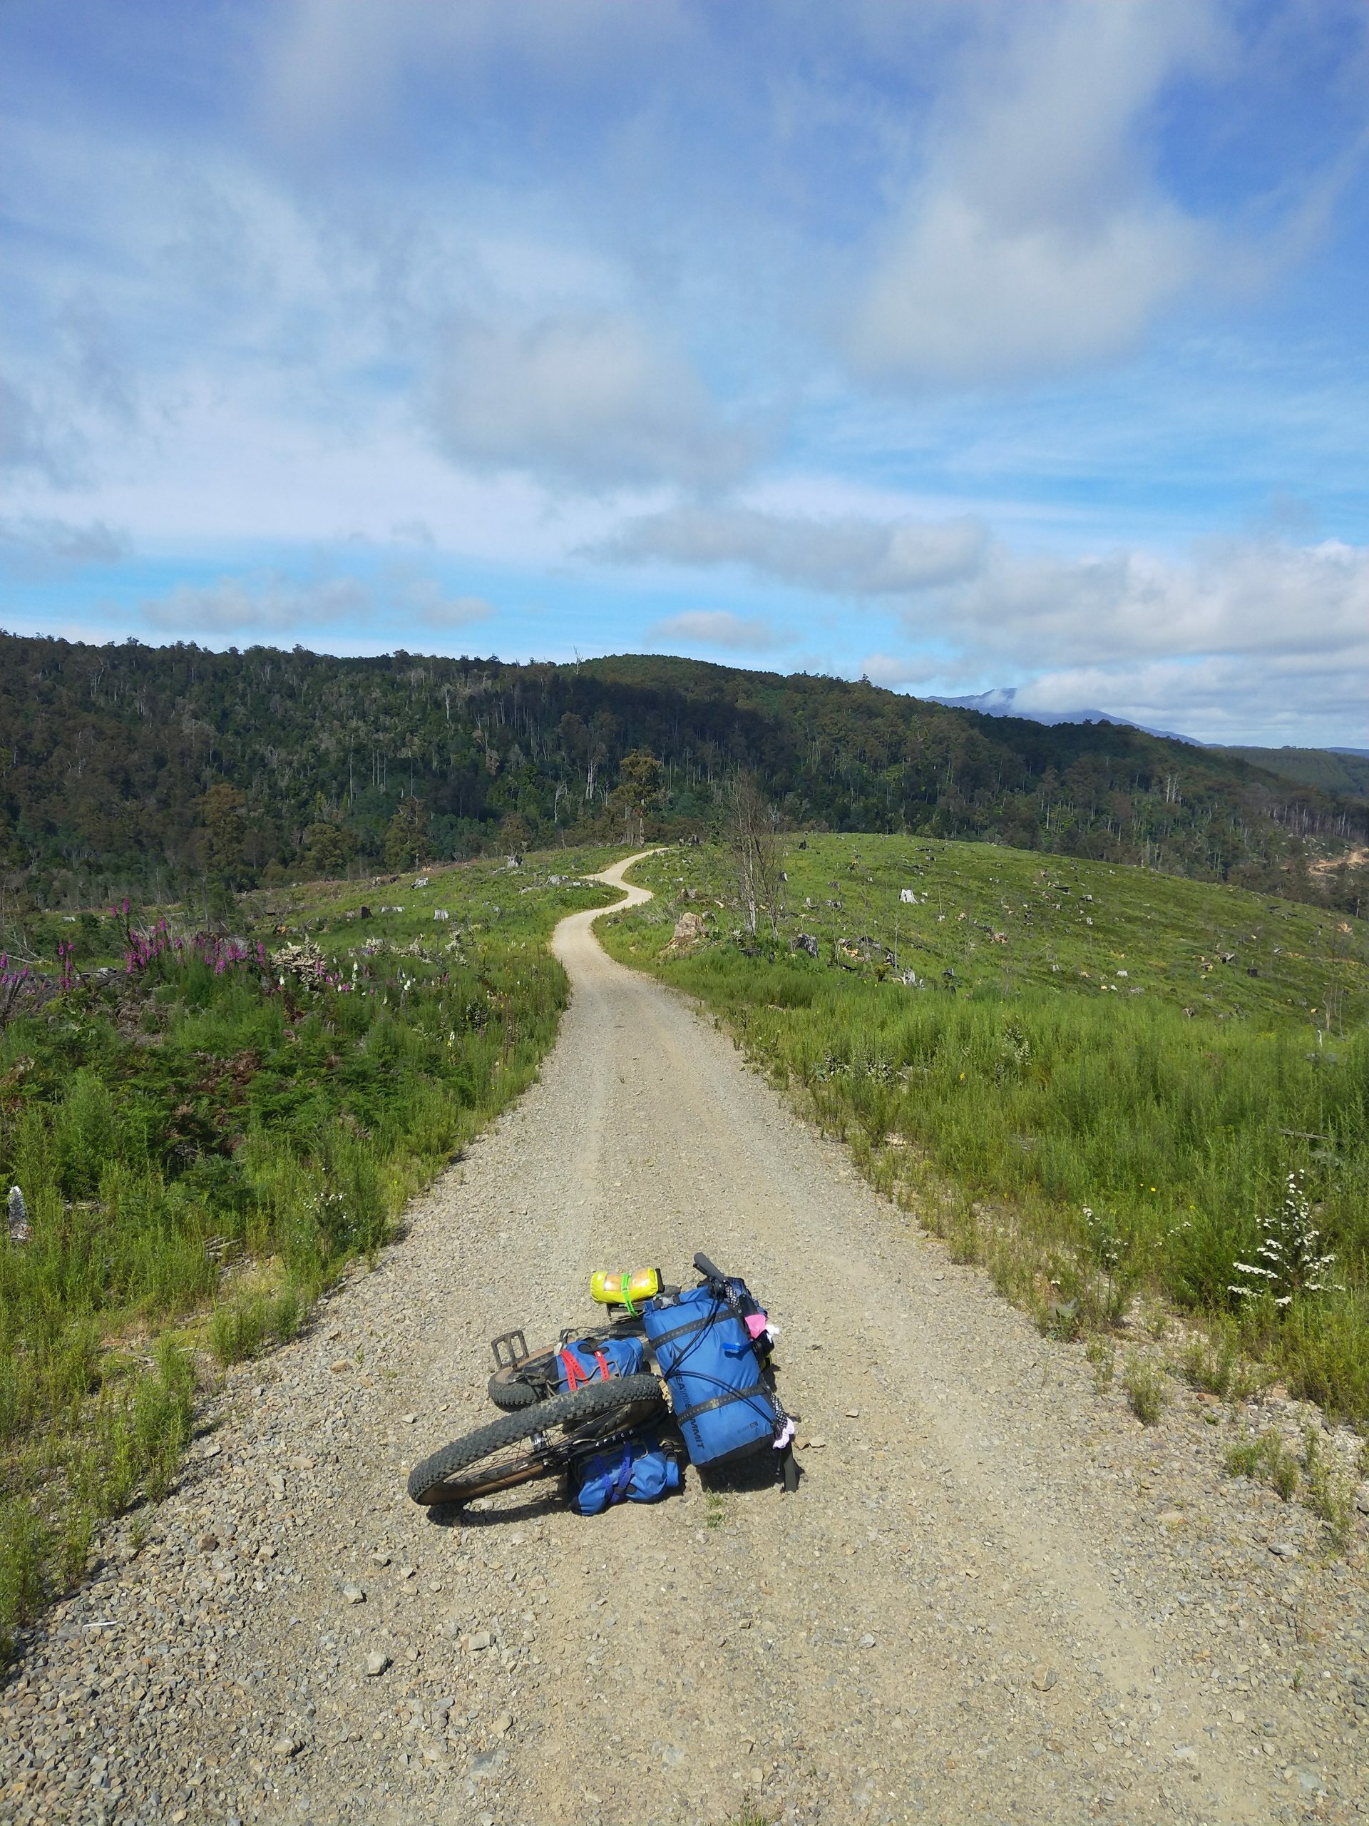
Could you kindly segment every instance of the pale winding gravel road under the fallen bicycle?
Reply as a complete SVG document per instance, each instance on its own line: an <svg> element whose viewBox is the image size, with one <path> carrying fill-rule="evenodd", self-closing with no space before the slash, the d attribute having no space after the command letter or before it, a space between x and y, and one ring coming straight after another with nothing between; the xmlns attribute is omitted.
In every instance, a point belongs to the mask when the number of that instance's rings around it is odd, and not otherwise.
<svg viewBox="0 0 1369 1826"><path fill-rule="evenodd" d="M1196 1399L1095 1393L591 920L540 1083L29 1634L0 1822L1365 1819L1362 1552L1225 1481ZM798 1495L409 1503L493 1333L699 1247L779 1322Z"/></svg>

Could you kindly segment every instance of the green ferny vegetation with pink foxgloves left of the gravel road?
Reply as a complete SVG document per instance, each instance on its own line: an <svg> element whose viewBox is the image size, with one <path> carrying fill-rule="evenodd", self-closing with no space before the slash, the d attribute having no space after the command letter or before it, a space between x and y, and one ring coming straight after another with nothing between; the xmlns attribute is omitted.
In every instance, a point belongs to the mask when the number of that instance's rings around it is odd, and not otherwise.
<svg viewBox="0 0 1369 1826"><path fill-rule="evenodd" d="M573 882L606 860L257 895L237 937L120 908L58 970L0 970L27 1216L0 1231L0 1642L168 1486L195 1360L292 1337L529 1083L566 1001L546 939L613 898Z"/></svg>

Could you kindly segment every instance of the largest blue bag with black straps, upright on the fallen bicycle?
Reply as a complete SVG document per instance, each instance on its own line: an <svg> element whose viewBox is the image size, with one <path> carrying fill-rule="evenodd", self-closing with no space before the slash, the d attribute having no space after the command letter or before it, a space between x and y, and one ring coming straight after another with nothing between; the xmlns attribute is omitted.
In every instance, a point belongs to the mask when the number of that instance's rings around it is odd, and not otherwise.
<svg viewBox="0 0 1369 1826"><path fill-rule="evenodd" d="M643 1309L675 1426L692 1464L739 1459L774 1443L778 1417L750 1333L706 1286Z"/></svg>

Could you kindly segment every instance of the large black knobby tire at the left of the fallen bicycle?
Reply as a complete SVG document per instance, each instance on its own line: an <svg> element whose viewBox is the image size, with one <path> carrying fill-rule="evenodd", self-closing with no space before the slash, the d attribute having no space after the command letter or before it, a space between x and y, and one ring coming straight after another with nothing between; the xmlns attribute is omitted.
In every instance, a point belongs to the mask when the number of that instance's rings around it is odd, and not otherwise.
<svg viewBox="0 0 1369 1826"><path fill-rule="evenodd" d="M491 1490L557 1475L570 1459L570 1441L551 1452L515 1453L513 1448L553 1426L590 1432L586 1422L619 1411L624 1415L624 1424L633 1410L646 1419L663 1402L661 1384L653 1375L611 1377L608 1382L577 1388L573 1395L553 1395L551 1401L533 1402L531 1408L506 1413L489 1426L476 1428L465 1439L455 1439L414 1464L409 1472L409 1495L414 1503L467 1503ZM595 1432L602 1433L604 1428Z"/></svg>

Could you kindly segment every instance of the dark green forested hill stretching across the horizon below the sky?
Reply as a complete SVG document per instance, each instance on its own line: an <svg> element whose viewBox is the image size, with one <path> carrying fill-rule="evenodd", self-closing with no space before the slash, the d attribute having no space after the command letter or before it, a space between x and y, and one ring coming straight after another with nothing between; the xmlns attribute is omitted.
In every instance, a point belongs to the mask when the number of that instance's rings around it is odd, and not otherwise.
<svg viewBox="0 0 1369 1826"><path fill-rule="evenodd" d="M1112 723L1046 727L648 656L507 665L0 635L11 906L643 824L703 831L737 769L790 825L986 838L1343 906L1364 886L1327 866L1364 844L1364 805Z"/></svg>

